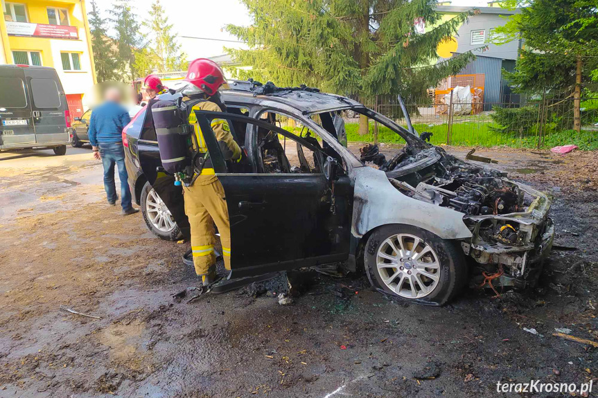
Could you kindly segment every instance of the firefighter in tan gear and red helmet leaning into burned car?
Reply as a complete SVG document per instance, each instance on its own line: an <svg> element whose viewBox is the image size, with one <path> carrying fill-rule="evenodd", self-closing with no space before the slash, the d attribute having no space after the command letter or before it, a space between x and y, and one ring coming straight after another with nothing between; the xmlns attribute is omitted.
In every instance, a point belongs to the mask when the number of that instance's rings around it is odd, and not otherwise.
<svg viewBox="0 0 598 398"><path fill-rule="evenodd" d="M186 78L189 84L182 90L183 100L191 105L189 123L193 125L199 146L197 152L207 153L204 137L193 110L226 111L218 89L226 84L225 76L220 66L212 60L199 58L189 64ZM240 161L241 149L234 141L229 125L225 119L215 118L211 121L211 128L225 160ZM191 249L195 273L202 277L204 286L216 280L216 255L214 244L214 224L218 226L222 256L225 268L231 269L231 228L229 211L225 200L225 190L216 178L209 156L200 175L195 182L184 187L185 212L191 224Z"/></svg>

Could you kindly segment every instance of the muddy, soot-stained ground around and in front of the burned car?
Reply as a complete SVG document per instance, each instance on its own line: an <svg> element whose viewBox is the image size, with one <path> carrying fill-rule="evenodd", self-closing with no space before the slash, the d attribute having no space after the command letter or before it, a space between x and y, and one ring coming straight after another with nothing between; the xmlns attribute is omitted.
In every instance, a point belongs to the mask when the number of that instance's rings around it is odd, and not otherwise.
<svg viewBox="0 0 598 398"><path fill-rule="evenodd" d="M552 333L598 341L596 154L476 154L552 194L555 244L578 250L554 251L536 289L442 308L314 273L293 305L259 289L176 302L197 283L188 244L107 206L89 150L0 154L0 397L515 397L496 383L589 382L597 349Z"/></svg>

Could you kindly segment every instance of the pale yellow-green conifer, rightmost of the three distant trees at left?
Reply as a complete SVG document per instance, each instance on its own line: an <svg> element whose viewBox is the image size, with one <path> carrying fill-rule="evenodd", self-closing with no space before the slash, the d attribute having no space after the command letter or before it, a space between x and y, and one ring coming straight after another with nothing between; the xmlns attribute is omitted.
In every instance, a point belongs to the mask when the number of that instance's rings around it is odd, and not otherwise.
<svg viewBox="0 0 598 398"><path fill-rule="evenodd" d="M168 72L187 68L186 54L181 52L177 35L173 33L173 24L168 24L168 17L160 1L152 3L149 19L143 22L149 30L150 42L136 54L136 67L141 71Z"/></svg>

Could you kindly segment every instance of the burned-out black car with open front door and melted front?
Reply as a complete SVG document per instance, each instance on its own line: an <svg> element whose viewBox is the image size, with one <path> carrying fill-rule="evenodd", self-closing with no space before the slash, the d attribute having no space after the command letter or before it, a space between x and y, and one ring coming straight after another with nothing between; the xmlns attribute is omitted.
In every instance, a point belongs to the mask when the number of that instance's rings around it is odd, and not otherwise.
<svg viewBox="0 0 598 398"><path fill-rule="evenodd" d="M195 112L225 189L228 278L337 264L367 273L382 293L427 305L443 305L468 281L494 289L536 282L554 236L542 192L460 161L349 98L252 81L229 85L224 114ZM339 111L367 116L405 146L388 160L365 148L360 159L339 142ZM227 119L245 148L240 163L222 157L213 118ZM140 165L188 235L182 189L160 171L148 119L127 137L136 149L127 161Z"/></svg>

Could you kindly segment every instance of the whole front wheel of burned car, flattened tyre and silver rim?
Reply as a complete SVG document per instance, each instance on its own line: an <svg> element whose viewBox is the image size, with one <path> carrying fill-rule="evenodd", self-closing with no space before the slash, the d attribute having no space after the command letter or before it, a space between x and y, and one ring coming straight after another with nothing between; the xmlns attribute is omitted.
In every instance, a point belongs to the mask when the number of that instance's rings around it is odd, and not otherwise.
<svg viewBox="0 0 598 398"><path fill-rule="evenodd" d="M463 252L455 242L403 224L373 231L364 250L364 265L378 291L423 305L446 304L468 278Z"/></svg>

